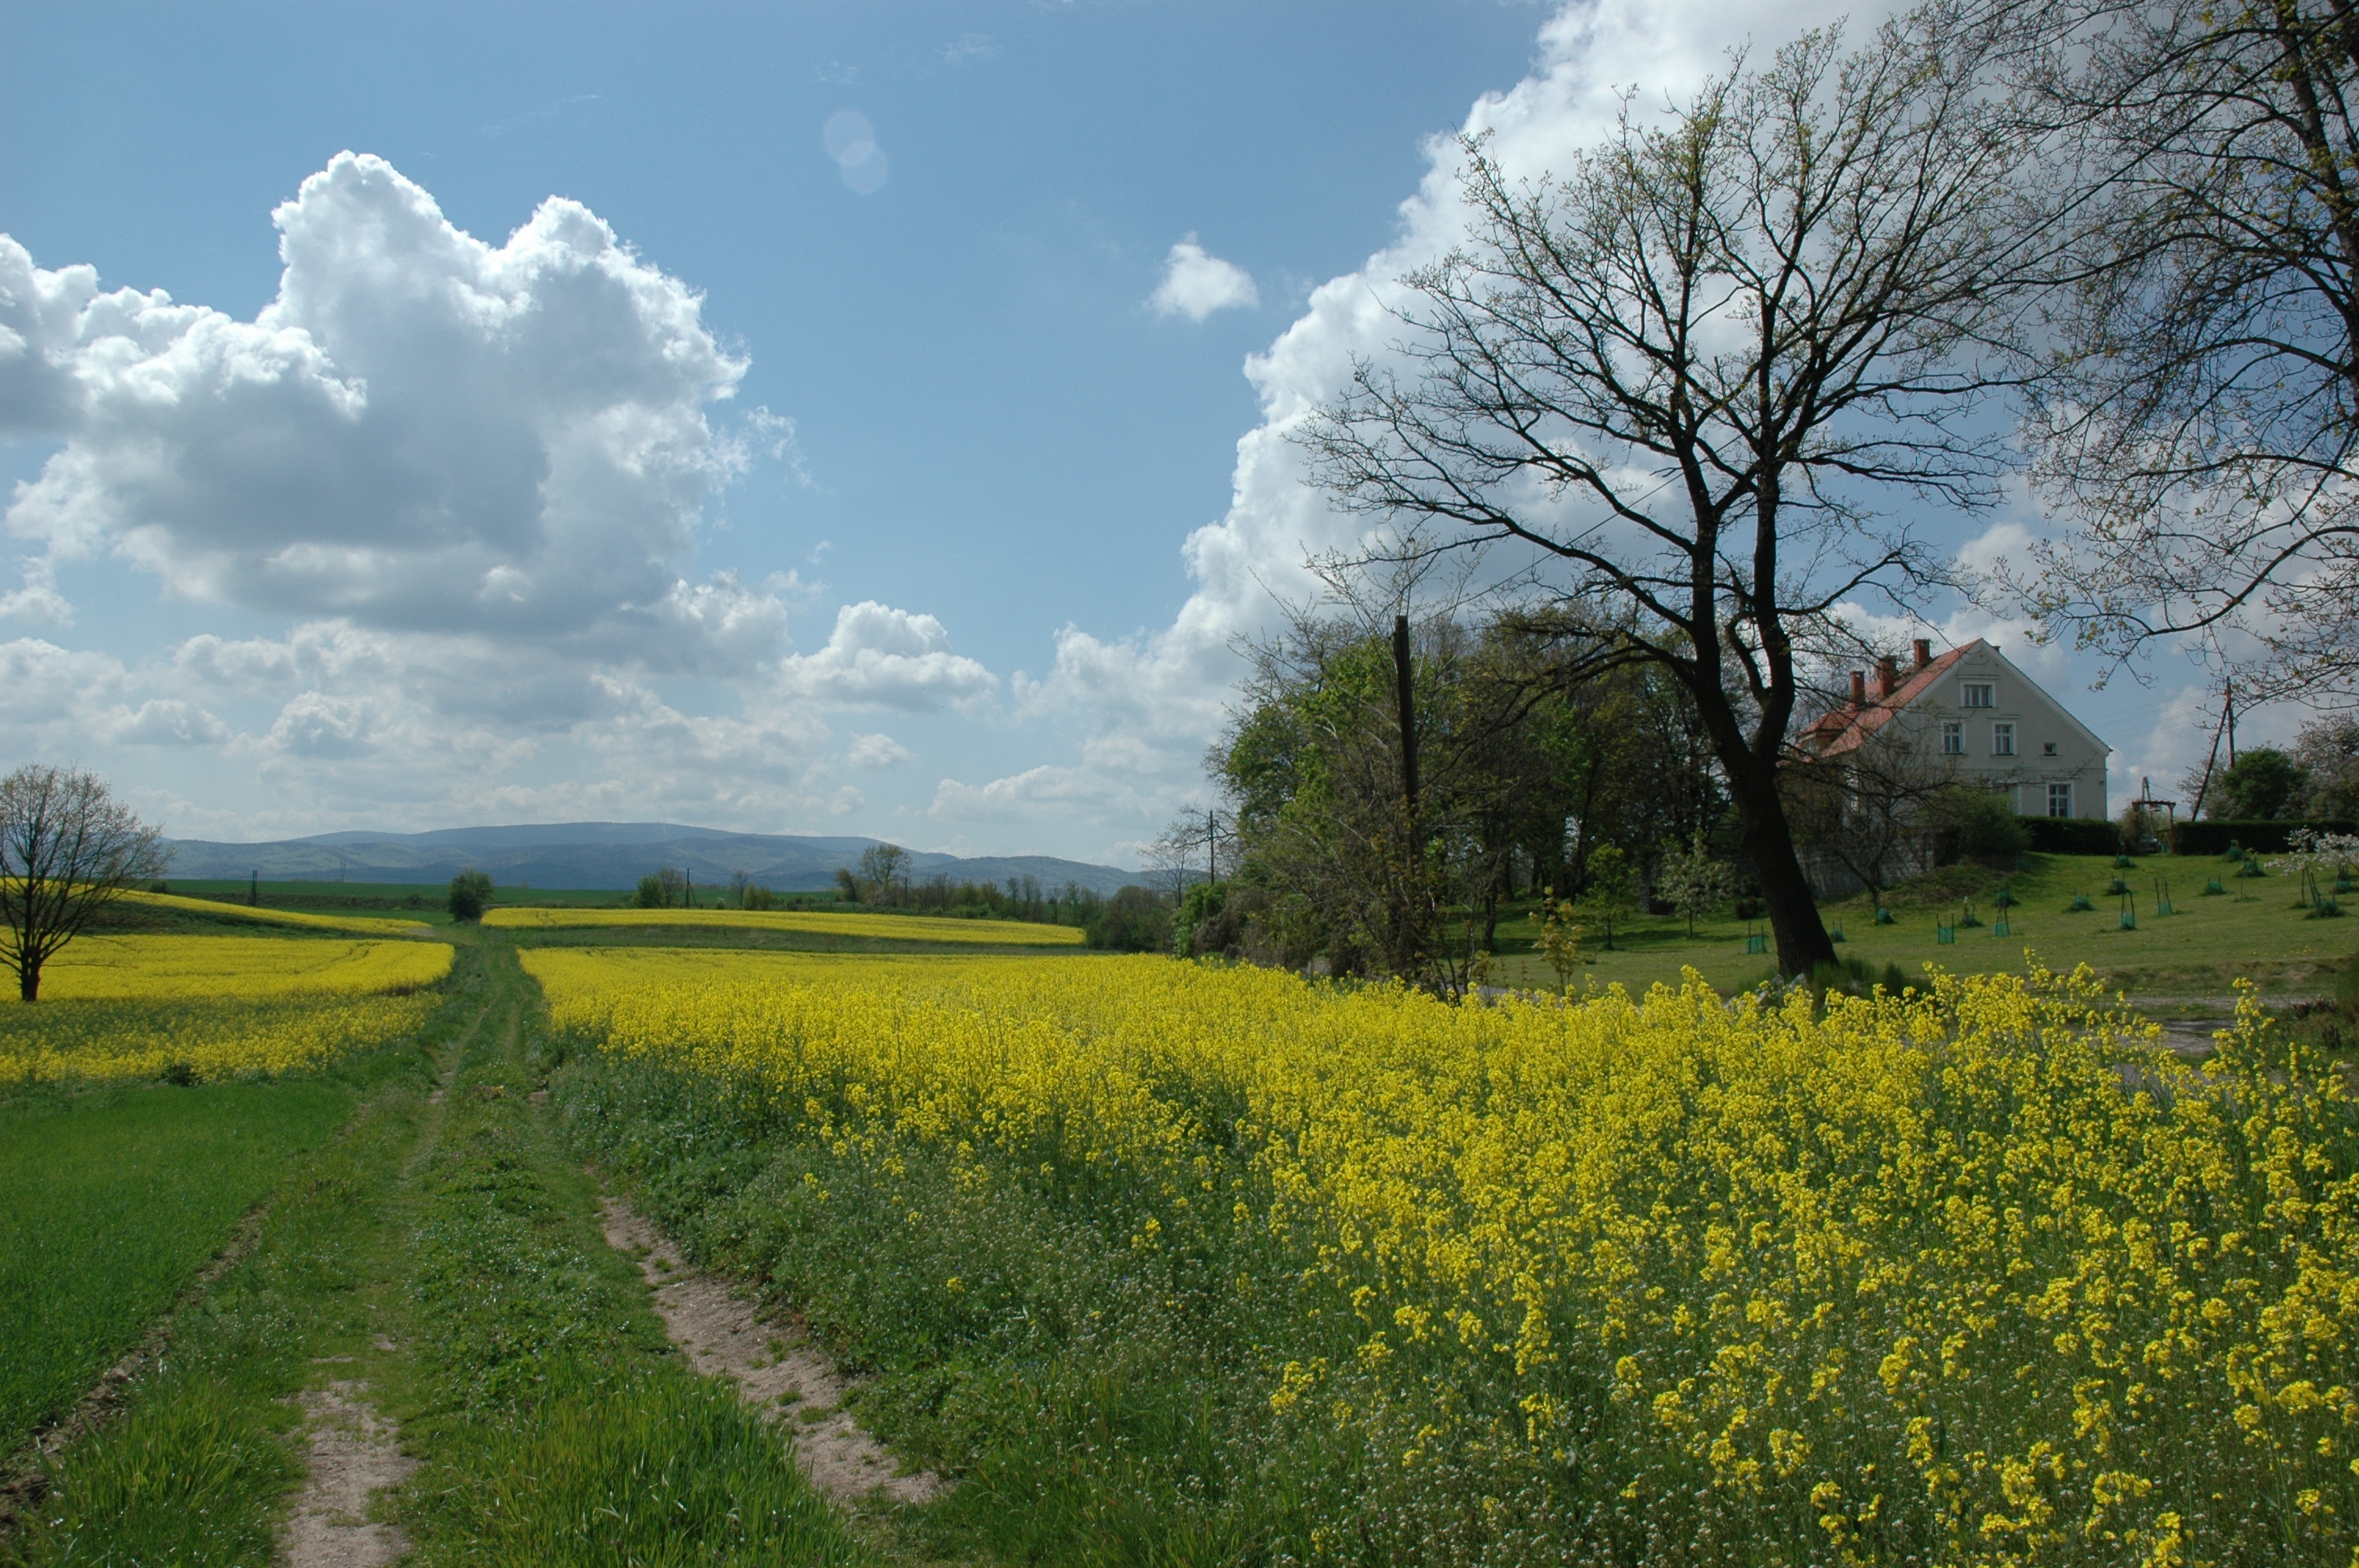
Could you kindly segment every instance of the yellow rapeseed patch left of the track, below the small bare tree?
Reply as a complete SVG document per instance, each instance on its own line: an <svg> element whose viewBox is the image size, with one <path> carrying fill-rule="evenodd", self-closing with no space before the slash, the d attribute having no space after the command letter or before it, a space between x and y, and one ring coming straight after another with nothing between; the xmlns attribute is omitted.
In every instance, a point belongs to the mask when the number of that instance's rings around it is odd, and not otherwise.
<svg viewBox="0 0 2359 1568"><path fill-rule="evenodd" d="M293 1073L425 1023L446 943L83 936L0 1007L0 1085Z"/></svg>

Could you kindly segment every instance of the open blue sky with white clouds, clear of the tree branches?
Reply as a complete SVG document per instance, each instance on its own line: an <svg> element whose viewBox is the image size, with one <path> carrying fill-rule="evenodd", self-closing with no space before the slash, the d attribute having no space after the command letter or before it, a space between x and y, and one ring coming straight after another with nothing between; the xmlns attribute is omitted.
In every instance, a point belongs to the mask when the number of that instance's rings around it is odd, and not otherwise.
<svg viewBox="0 0 2359 1568"><path fill-rule="evenodd" d="M1550 167L1616 85L1828 14L7 7L19 292L83 323L54 356L97 311L151 358L75 361L71 422L0 361L0 736L177 835L1130 861L1229 639L1349 538L1281 436L1446 245L1434 139ZM2005 641L2116 797L2201 747L2175 667L2090 696Z"/></svg>

